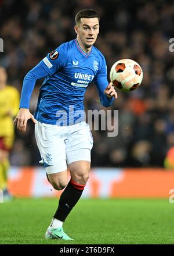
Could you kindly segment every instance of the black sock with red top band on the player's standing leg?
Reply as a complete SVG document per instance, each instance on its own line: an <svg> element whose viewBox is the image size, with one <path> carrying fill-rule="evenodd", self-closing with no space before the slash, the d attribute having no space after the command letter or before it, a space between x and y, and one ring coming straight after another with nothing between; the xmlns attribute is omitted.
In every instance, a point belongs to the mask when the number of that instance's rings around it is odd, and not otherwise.
<svg viewBox="0 0 174 256"><path fill-rule="evenodd" d="M84 191L84 187L85 185L79 185L74 183L73 180L70 180L66 189L60 195L59 206L53 217L64 222L68 214L70 214L71 209L73 209L74 205L77 204L82 192Z"/></svg>

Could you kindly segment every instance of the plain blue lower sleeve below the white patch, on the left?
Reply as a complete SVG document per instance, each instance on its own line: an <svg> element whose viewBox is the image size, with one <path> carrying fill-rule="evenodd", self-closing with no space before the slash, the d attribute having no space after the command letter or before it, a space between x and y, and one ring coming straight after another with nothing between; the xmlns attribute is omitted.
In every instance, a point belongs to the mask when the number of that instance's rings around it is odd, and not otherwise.
<svg viewBox="0 0 174 256"><path fill-rule="evenodd" d="M20 108L30 107L30 98L34 90L35 82L48 75L49 73L42 67L41 62L26 74L21 91Z"/></svg>

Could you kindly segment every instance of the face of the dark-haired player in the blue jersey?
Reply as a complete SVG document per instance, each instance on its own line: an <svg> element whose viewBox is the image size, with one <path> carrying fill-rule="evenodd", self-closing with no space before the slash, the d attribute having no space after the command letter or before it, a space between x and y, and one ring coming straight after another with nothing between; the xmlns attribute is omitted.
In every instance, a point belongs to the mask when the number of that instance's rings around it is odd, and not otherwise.
<svg viewBox="0 0 174 256"><path fill-rule="evenodd" d="M78 26L75 26L77 40L85 49L91 48L99 34L99 20L97 18L82 18Z"/></svg>

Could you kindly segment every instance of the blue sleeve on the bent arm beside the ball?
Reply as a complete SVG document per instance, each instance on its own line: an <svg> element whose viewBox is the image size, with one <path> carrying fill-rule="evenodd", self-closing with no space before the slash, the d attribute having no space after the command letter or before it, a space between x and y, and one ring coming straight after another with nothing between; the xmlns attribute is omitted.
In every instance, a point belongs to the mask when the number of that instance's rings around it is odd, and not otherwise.
<svg viewBox="0 0 174 256"><path fill-rule="evenodd" d="M95 83L96 83L97 90L99 91L100 102L102 103L103 106L108 108L108 106L110 106L113 103L114 98L108 99L106 94L104 94L104 90L108 86L107 66L104 58L103 58L102 68L96 74Z"/></svg>

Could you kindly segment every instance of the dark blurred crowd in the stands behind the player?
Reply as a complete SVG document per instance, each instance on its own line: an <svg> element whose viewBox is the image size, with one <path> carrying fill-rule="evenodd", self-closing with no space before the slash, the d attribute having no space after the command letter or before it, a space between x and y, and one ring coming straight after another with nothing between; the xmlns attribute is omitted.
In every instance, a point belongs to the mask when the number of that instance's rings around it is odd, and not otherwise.
<svg viewBox="0 0 174 256"><path fill-rule="evenodd" d="M174 145L174 37L173 1L119 0L0 0L0 37L4 52L0 65L8 71L8 83L21 91L26 73L62 42L75 38L74 16L81 9L95 9L100 15L96 47L106 57L108 73L114 62L134 59L143 69L142 85L131 93L118 92L110 109L118 109L119 131L92 131L92 166L164 166ZM173 47L174 48L174 47ZM109 77L108 77L109 79ZM35 111L39 81L32 94ZM85 109L104 109L96 87L85 95ZM38 165L39 152L34 125L26 133L16 130L10 161L12 165Z"/></svg>

